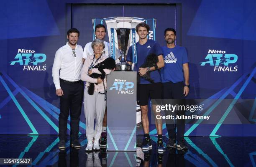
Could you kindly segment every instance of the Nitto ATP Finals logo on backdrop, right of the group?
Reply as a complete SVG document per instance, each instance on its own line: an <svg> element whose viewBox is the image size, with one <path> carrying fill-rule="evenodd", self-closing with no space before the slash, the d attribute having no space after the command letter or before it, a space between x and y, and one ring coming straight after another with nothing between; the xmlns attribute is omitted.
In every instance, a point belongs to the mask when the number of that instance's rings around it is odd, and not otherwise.
<svg viewBox="0 0 256 167"><path fill-rule="evenodd" d="M213 54L212 54L213 53ZM238 56L235 54L225 54L226 51L208 50L208 54L205 57L205 62L201 62L201 66L209 64L214 66L213 71L228 71L236 72L238 66L234 63L237 62Z"/></svg>

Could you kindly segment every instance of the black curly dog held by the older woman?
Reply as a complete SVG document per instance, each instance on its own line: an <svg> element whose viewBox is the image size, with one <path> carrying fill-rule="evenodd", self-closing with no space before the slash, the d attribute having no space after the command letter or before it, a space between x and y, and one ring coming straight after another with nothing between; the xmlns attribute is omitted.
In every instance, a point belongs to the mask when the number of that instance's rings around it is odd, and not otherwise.
<svg viewBox="0 0 256 167"><path fill-rule="evenodd" d="M102 61L101 63L98 63L93 68L98 68L98 70L102 74L92 73L90 74L90 77L92 78L100 77L103 80L106 76L106 73L103 69L113 70L115 68L115 60L113 58L106 58L104 61ZM95 84L98 84L98 83L95 83ZM93 95L93 93L94 93L94 83L90 83L88 87L88 94Z"/></svg>

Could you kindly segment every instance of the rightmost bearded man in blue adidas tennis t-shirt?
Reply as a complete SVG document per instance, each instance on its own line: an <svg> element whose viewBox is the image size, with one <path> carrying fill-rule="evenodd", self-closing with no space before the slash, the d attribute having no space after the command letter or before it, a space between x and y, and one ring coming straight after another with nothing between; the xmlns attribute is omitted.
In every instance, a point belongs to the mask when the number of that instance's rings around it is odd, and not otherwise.
<svg viewBox="0 0 256 167"><path fill-rule="evenodd" d="M166 46L162 47L164 53L164 68L161 69L161 81L163 83L164 99L184 99L189 93L189 68L187 51L182 46L175 46L176 31L167 28L164 31ZM185 84L184 84L185 80ZM181 114L181 111L177 111ZM167 114L167 113L166 113ZM176 116L175 116L176 117ZM166 123L169 135L167 147L187 148L184 144L184 119L177 119L177 136L174 123Z"/></svg>

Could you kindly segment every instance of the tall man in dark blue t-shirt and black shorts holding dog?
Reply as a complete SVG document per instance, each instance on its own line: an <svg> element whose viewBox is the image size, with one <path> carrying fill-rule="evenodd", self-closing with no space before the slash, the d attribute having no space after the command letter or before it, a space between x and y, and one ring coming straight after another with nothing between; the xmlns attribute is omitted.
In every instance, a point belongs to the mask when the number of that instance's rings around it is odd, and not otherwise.
<svg viewBox="0 0 256 167"><path fill-rule="evenodd" d="M151 99L161 99L161 76L159 73L160 68L164 67L163 53L159 43L154 40L148 40L147 35L150 27L146 23L139 23L136 26L136 32L139 36L139 41L136 43L137 50L137 63L134 68L138 71L139 76L145 75L150 71L151 78L154 83L147 81L145 78L140 77L140 83L137 86L137 101L138 105L141 107L141 120L144 130L144 139L142 143L142 149L145 151L152 147L151 140L149 137L149 121L148 121L148 98ZM140 66L145 62L146 57L154 53L158 58L158 63L154 67L140 68ZM126 61L132 64L133 54L132 47L129 48ZM156 106L152 105L152 110L156 116ZM162 141L162 121L161 119L155 119L157 134L158 134L158 151L164 152L164 145Z"/></svg>

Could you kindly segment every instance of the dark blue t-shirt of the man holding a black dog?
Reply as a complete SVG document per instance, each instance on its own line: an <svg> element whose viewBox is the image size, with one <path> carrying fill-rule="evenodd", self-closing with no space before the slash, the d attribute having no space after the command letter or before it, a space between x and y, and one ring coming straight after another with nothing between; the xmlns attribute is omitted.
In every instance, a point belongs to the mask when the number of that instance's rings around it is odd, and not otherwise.
<svg viewBox="0 0 256 167"><path fill-rule="evenodd" d="M134 66L133 71L138 71L140 66L145 62L146 57L154 53L156 56L162 55L162 49L159 43L157 43L155 40L148 40L145 44L141 45L140 43L136 43L136 50L137 50L137 63ZM126 61L133 62L133 48L132 46L129 48L127 53ZM158 70L151 71L150 73L151 78L157 82L161 82L161 76ZM151 82L147 81L146 79L141 77L141 84L149 84Z"/></svg>

